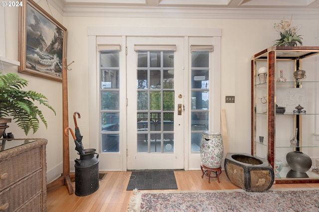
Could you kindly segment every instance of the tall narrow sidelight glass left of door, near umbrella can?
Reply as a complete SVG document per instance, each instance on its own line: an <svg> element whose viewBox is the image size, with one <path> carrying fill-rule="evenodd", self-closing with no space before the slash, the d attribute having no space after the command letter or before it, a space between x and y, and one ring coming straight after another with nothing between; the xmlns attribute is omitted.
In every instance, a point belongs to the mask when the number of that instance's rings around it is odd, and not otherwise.
<svg viewBox="0 0 319 212"><path fill-rule="evenodd" d="M119 51L100 52L100 115L102 152L120 151Z"/></svg>

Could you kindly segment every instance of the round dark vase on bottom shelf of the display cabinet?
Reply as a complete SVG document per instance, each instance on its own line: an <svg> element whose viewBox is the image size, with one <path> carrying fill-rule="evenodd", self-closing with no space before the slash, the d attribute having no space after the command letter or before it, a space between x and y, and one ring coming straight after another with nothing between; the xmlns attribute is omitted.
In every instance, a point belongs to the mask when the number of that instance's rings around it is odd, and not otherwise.
<svg viewBox="0 0 319 212"><path fill-rule="evenodd" d="M303 152L294 151L286 155L290 168L295 172L306 173L312 166L311 158Z"/></svg>

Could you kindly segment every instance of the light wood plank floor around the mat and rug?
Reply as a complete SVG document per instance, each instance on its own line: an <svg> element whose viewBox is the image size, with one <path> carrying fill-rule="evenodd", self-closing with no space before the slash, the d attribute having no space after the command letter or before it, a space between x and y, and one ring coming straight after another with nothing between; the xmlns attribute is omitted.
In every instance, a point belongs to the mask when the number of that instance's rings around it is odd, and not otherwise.
<svg viewBox="0 0 319 212"><path fill-rule="evenodd" d="M223 171L220 183L216 178L201 178L201 171L175 171L177 188L180 191L232 190L234 186ZM107 172L99 189L88 196L69 195L65 186L47 192L48 212L126 212L133 191L126 191L131 172ZM75 188L74 182L72 182ZM319 184L277 184L272 188L319 188ZM176 190L174 190L176 191Z"/></svg>

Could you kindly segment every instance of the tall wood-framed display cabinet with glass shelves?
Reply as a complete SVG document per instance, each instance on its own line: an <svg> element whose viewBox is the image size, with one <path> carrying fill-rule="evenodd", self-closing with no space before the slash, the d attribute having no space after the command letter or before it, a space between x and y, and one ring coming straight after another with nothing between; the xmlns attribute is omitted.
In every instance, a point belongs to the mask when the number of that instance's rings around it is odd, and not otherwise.
<svg viewBox="0 0 319 212"><path fill-rule="evenodd" d="M251 154L267 157L273 167L276 159L283 162L275 183L319 183L319 174L312 170L294 174L286 161L287 153L302 151L316 166L318 60L319 46L271 46L251 57ZM301 72L306 75L300 77ZM277 82L280 79L284 82ZM264 136L262 143L259 136ZM290 143L294 137L296 145Z"/></svg>

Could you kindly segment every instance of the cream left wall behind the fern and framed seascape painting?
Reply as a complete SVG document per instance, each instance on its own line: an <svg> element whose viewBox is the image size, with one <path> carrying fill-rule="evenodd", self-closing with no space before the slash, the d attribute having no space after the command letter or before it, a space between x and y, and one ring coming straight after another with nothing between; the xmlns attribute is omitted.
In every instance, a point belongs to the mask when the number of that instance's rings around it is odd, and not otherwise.
<svg viewBox="0 0 319 212"><path fill-rule="evenodd" d="M56 12L54 8L48 8L46 1L41 1L39 5L49 14L63 23L63 16ZM5 16L5 47L6 57L12 60L18 60L18 7L4 7ZM5 72L16 72L17 67L10 67ZM46 146L47 159L47 181L50 182L62 173L62 84L59 82L46 80L18 73L22 78L29 81L25 90L32 90L42 93L48 98L49 104L56 110L54 113L45 107L41 107L42 113L47 120L48 129L40 122L40 129L32 134L32 131L25 136L24 132L18 128L14 122L9 124L7 132L12 132L16 138L46 138L48 144Z"/></svg>

